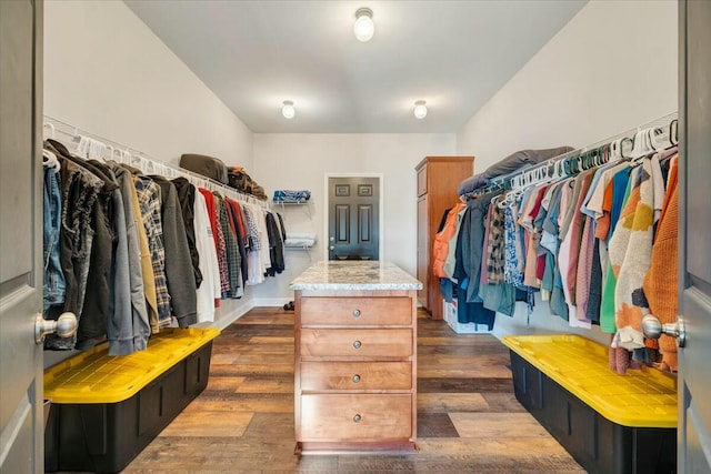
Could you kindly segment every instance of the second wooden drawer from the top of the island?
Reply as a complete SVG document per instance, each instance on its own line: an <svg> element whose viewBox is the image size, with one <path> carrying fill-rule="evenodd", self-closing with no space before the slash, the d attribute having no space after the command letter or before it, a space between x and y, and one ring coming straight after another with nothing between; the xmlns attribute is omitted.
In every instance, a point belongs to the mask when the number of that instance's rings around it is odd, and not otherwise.
<svg viewBox="0 0 711 474"><path fill-rule="evenodd" d="M412 355L412 330L302 329L301 356L408 357Z"/></svg>

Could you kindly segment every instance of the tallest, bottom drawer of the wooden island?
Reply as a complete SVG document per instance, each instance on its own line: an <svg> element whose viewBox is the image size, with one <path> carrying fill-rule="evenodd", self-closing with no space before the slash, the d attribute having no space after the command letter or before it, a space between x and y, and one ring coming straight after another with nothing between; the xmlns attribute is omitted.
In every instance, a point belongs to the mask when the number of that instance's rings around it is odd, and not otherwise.
<svg viewBox="0 0 711 474"><path fill-rule="evenodd" d="M412 436L410 394L301 395L297 441L382 441Z"/></svg>

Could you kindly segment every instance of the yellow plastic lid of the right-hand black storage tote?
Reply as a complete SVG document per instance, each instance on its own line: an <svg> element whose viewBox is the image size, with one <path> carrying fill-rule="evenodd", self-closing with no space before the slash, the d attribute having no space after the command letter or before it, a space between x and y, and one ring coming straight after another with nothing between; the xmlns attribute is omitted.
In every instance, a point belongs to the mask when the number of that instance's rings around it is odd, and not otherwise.
<svg viewBox="0 0 711 474"><path fill-rule="evenodd" d="M673 374L643 367L620 375L608 365L607 346L572 334L509 335L501 342L613 423L677 427Z"/></svg>

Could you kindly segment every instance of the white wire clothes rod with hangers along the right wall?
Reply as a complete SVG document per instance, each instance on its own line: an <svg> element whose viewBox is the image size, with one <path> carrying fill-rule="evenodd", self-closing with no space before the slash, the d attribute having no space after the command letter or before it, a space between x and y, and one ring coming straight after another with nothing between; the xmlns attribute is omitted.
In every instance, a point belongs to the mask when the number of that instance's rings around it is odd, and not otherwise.
<svg viewBox="0 0 711 474"><path fill-rule="evenodd" d="M678 112L672 112L657 120L648 122L643 125L639 125L634 129L629 129L622 133L618 133L617 135L610 137L605 140L600 140L599 142L589 144L584 148L580 148L577 150L572 150L568 153L553 157L541 163L537 163L533 167L524 168L522 170L514 171L503 177L493 178L487 188L477 190L474 191L474 193L464 194L462 198L471 198L474 195L479 195L481 193L491 192L491 191L501 190L501 189L508 190L508 189L521 186L522 184L524 185L534 184L535 180L533 178L537 175L537 173L541 172L542 170L547 170L551 167L563 168L563 164L565 164L567 160L581 158L585 155L585 153L595 152L602 149L603 147L610 145L611 143L617 142L619 140L625 141L634 150L635 139L640 135L640 133L648 130L664 129L668 131L670 138L672 135L675 137L677 131L675 131L674 124L678 123L678 117L679 117ZM623 155L622 158L629 158L629 157ZM545 178L550 178L549 174L550 173L547 173ZM527 179L523 179L523 178L527 178Z"/></svg>

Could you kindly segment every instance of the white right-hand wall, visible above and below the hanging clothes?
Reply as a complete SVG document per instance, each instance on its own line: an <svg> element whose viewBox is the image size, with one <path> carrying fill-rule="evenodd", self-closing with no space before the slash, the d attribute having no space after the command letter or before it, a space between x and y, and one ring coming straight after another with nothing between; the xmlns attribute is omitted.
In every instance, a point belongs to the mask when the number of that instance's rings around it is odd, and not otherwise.
<svg viewBox="0 0 711 474"><path fill-rule="evenodd" d="M457 134L484 170L521 149L584 147L678 110L677 2L591 1ZM494 333L565 331L538 304ZM608 341L598 330L582 334Z"/></svg>

